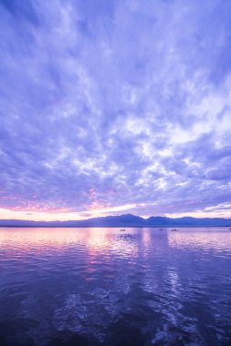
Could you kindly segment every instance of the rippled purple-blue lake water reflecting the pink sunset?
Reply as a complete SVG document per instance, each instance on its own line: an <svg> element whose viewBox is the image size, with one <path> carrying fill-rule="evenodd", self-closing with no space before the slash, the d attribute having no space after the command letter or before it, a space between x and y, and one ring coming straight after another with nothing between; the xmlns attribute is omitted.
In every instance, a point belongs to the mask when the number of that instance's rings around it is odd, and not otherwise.
<svg viewBox="0 0 231 346"><path fill-rule="evenodd" d="M231 231L0 229L0 345L231 345Z"/></svg>

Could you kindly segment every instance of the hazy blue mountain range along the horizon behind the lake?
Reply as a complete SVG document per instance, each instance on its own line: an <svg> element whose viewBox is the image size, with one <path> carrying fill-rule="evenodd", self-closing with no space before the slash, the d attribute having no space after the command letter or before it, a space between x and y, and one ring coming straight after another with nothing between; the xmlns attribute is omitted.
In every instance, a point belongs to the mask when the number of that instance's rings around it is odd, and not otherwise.
<svg viewBox="0 0 231 346"><path fill-rule="evenodd" d="M27 221L20 219L2 219L0 227L198 227L198 226L231 226L231 219L184 217L171 219L151 217L143 219L139 216L124 214L120 216L100 217L69 221Z"/></svg>

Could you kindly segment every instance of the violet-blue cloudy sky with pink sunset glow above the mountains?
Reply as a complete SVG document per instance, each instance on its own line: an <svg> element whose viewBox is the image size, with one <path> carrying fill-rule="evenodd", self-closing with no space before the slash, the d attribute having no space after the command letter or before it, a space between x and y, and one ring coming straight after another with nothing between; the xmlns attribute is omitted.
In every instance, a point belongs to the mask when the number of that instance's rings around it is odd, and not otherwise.
<svg viewBox="0 0 231 346"><path fill-rule="evenodd" d="M229 0L0 0L0 219L231 218Z"/></svg>

